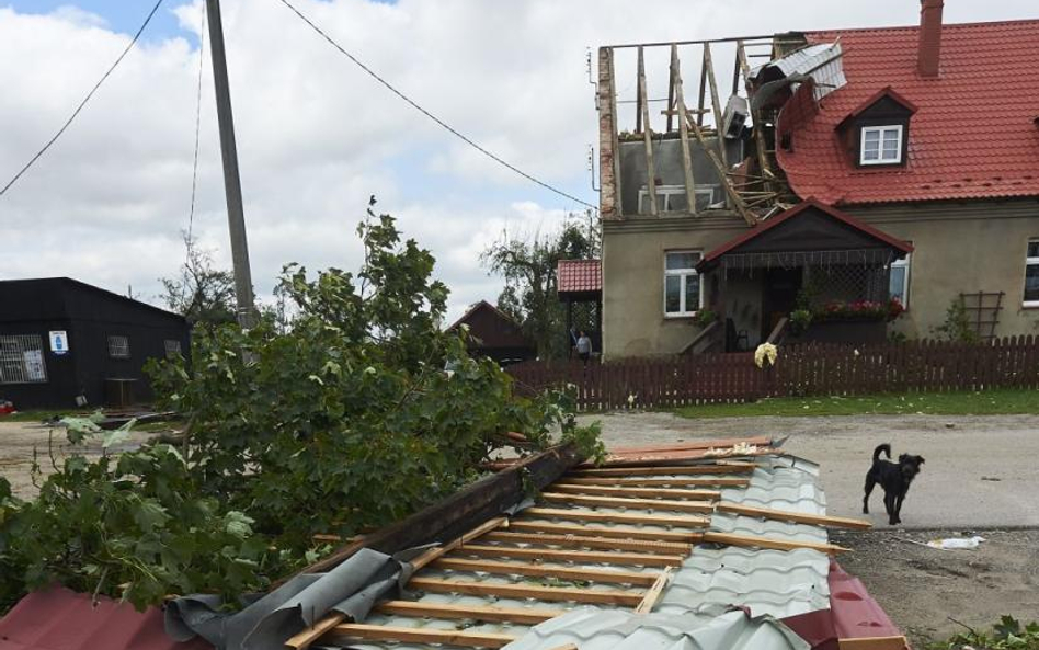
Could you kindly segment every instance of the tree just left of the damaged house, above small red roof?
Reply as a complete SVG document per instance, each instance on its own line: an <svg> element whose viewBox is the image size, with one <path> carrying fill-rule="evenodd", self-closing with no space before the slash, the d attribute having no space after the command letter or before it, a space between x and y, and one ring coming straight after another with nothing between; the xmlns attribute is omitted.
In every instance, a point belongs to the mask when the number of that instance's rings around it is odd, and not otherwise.
<svg viewBox="0 0 1039 650"><path fill-rule="evenodd" d="M538 355L557 358L567 353L563 307L557 293L556 266L560 260L598 255L594 229L572 215L558 231L533 238L503 236L483 251L481 260L505 278L498 307L523 323L537 344Z"/></svg>

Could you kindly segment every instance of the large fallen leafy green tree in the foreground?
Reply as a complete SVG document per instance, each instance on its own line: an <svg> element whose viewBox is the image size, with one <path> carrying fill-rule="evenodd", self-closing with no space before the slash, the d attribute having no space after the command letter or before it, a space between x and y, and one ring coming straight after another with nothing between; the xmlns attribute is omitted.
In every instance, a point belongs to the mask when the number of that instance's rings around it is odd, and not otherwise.
<svg viewBox="0 0 1039 650"><path fill-rule="evenodd" d="M184 445L118 458L73 455L30 503L0 481L0 600L52 582L142 607L170 593L265 589L343 537L383 526L471 481L503 446L557 432L590 454L566 395L524 399L493 362L441 332L434 260L370 215L359 273L288 265L296 317L196 331L192 365L155 363ZM445 370L449 367L450 370ZM70 422L70 440L89 423ZM2 604L2 603L0 603Z"/></svg>

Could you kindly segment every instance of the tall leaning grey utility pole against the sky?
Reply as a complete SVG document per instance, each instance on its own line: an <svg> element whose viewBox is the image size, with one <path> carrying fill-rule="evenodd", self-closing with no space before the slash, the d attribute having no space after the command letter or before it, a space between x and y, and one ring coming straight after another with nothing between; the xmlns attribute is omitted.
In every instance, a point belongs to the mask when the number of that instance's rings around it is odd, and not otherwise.
<svg viewBox="0 0 1039 650"><path fill-rule="evenodd" d="M256 324L256 306L252 295L249 270L249 243L246 241L246 214L242 208L242 184L238 175L238 148L235 145L235 118L231 115L231 91L227 79L227 56L224 52L224 23L220 0L205 0L209 19L209 52L213 53L213 81L216 85L217 118L220 124L220 152L224 155L224 189L227 193L227 223L231 232L231 258L235 264L235 297L238 322L244 328Z"/></svg>

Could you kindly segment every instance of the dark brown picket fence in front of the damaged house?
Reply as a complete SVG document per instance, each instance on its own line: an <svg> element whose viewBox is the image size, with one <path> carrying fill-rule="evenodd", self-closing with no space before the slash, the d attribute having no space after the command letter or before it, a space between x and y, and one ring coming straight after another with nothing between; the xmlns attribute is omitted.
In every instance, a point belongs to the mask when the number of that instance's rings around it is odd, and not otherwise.
<svg viewBox="0 0 1039 650"><path fill-rule="evenodd" d="M766 362L767 364L767 362ZM1039 388L1039 337L783 346L774 367L754 354L700 354L607 363L528 361L509 366L522 391L571 385L578 408L741 402L764 397Z"/></svg>

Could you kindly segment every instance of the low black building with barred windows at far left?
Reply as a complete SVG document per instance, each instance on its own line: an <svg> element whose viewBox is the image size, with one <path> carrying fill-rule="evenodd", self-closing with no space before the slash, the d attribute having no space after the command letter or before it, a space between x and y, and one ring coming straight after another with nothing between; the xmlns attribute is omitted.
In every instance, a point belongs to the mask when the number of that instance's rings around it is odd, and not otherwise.
<svg viewBox="0 0 1039 650"><path fill-rule="evenodd" d="M189 331L176 313L68 277L0 281L0 399L22 410L147 402L145 362L187 354Z"/></svg>

